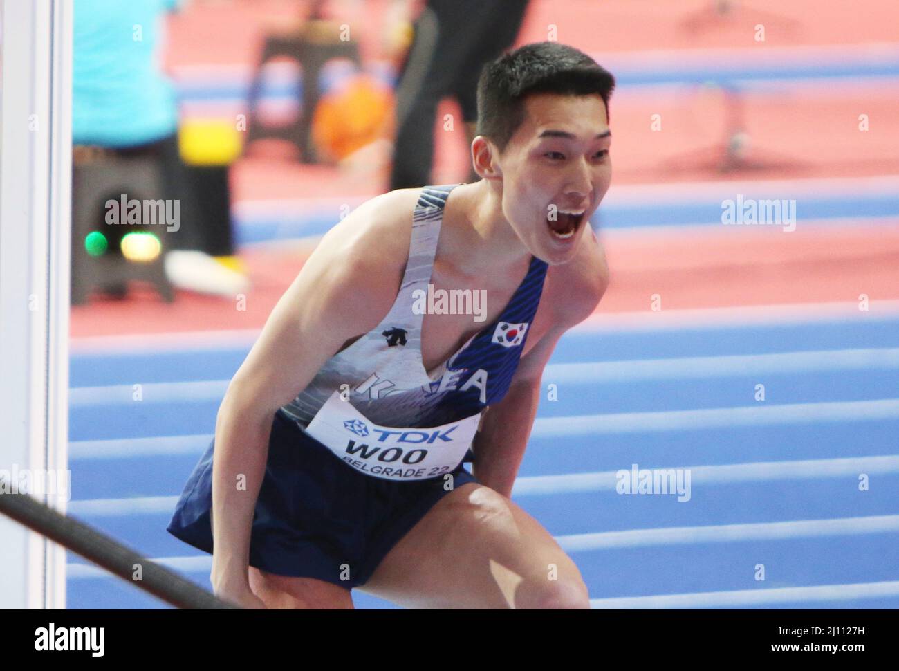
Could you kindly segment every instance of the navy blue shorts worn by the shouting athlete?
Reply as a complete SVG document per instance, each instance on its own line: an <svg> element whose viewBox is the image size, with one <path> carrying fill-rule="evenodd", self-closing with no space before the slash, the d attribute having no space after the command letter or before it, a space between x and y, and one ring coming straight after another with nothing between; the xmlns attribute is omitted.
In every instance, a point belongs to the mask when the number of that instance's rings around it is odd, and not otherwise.
<svg viewBox="0 0 899 671"><path fill-rule="evenodd" d="M212 453L191 473L167 530L212 552ZM463 465L453 488L476 478ZM364 585L387 552L449 494L445 476L396 482L363 475L279 410L250 537L250 566L280 576ZM349 568L349 579L346 569Z"/></svg>

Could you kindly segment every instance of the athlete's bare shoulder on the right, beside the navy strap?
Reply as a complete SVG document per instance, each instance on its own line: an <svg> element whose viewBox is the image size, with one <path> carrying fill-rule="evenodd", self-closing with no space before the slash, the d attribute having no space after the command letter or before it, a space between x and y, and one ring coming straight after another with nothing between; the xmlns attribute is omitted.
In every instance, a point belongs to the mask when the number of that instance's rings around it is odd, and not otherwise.
<svg viewBox="0 0 899 671"><path fill-rule="evenodd" d="M609 287L609 264L601 240L591 228L583 232L577 253L567 264L550 266L547 293L557 323L573 327L590 317Z"/></svg>

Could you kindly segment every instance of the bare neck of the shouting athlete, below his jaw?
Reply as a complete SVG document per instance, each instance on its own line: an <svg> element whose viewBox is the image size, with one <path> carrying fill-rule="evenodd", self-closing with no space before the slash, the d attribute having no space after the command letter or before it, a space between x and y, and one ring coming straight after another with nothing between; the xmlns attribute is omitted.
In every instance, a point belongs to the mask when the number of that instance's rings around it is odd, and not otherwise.
<svg viewBox="0 0 899 671"><path fill-rule="evenodd" d="M530 251L503 216L501 194L487 180L462 184L449 193L456 235L455 265L467 275L502 273L530 263Z"/></svg>

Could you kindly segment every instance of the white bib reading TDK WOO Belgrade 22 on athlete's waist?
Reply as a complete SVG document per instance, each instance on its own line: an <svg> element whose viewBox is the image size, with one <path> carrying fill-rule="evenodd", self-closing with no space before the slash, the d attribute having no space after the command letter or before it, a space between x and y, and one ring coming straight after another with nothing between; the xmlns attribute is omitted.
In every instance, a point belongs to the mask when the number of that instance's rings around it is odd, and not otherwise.
<svg viewBox="0 0 899 671"><path fill-rule="evenodd" d="M465 458L481 415L441 426L381 426L334 391L306 428L355 470L388 480L436 478Z"/></svg>

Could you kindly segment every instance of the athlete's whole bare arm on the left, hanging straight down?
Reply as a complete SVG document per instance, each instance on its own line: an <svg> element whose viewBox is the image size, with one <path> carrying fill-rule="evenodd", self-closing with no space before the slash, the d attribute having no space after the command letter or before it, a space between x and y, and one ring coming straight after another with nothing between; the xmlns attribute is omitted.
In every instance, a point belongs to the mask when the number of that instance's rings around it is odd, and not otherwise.
<svg viewBox="0 0 899 671"><path fill-rule="evenodd" d="M408 237L397 234L396 216L391 222L383 214L385 201L373 202L322 239L271 311L218 408L210 576L217 594L233 597L248 590L250 530L274 413L347 340L377 326L396 297L405 264L396 249L407 248ZM387 210L393 210L389 201Z"/></svg>

